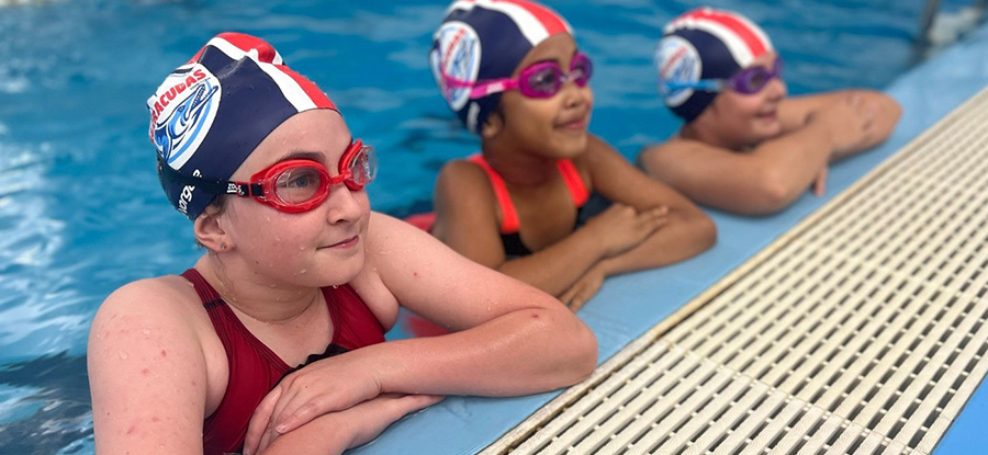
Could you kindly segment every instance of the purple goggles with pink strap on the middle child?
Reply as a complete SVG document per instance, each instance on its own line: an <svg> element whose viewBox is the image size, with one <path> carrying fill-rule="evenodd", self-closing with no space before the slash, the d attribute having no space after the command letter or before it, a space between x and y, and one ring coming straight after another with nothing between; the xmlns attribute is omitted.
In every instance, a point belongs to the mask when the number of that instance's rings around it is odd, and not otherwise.
<svg viewBox="0 0 988 455"><path fill-rule="evenodd" d="M521 70L517 78L492 79L470 82L442 75L446 90L470 88L470 99L476 100L506 90L520 90L528 98L550 98L569 81L586 87L594 72L594 65L586 54L576 53L570 62L570 72L563 72L555 61L540 61Z"/></svg>

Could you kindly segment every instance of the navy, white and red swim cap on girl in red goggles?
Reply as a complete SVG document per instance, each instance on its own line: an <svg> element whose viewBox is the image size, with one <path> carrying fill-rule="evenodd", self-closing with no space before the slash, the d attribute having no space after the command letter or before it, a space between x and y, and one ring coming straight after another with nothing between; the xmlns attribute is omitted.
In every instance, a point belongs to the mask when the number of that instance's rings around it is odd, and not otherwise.
<svg viewBox="0 0 988 455"><path fill-rule="evenodd" d="M171 71L147 100L148 136L158 166L211 180L228 180L247 156L292 115L336 106L284 65L263 39L223 33ZM216 197L193 185L166 180L168 201L195 219Z"/></svg>

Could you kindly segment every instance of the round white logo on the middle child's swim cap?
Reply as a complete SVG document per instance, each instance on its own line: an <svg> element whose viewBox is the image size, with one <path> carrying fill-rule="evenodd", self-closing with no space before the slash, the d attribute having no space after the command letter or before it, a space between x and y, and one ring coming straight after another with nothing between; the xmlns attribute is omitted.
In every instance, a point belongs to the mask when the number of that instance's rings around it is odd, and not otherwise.
<svg viewBox="0 0 988 455"><path fill-rule="evenodd" d="M453 111L470 101L471 87L457 87L449 79L476 82L480 71L481 45L476 31L463 22L442 24L433 36L436 43L429 55L433 76Z"/></svg>

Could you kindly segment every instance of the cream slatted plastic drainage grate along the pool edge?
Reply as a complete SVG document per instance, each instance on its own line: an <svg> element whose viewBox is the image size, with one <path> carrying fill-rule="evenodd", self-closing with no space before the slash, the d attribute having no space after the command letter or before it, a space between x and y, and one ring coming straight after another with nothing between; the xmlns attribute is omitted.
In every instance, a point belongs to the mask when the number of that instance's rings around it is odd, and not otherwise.
<svg viewBox="0 0 988 455"><path fill-rule="evenodd" d="M988 89L483 454L929 454L988 371Z"/></svg>

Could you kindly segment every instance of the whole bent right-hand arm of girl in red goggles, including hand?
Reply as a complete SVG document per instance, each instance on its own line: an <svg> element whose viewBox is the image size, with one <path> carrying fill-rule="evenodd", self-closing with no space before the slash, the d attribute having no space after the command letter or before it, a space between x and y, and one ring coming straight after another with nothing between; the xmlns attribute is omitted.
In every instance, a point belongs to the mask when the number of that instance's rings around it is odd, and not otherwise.
<svg viewBox="0 0 988 455"><path fill-rule="evenodd" d="M248 442L383 393L525 395L593 371L593 332L548 294L385 215L371 215L366 249L352 284L371 310L400 303L453 332L364 346L288 375L258 406Z"/></svg>

